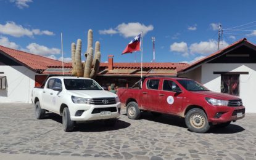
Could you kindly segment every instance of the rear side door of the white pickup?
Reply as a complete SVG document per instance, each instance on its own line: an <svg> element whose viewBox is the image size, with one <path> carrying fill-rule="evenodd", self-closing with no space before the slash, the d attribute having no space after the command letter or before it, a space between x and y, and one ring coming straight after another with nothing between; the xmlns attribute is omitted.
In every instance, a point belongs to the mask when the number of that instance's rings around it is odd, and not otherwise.
<svg viewBox="0 0 256 160"><path fill-rule="evenodd" d="M54 84L54 78L51 78L47 81L46 86L43 89L43 95L42 95L42 100L43 102L40 102L40 104L43 106L43 108L47 108L47 110L51 110L51 93L52 93L52 87ZM52 110L51 110L52 111Z"/></svg>

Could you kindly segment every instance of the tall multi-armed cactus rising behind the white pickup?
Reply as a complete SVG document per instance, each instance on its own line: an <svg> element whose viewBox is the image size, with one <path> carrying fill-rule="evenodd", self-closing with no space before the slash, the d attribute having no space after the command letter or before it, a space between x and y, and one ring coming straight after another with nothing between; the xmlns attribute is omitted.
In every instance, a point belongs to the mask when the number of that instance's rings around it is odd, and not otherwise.
<svg viewBox="0 0 256 160"><path fill-rule="evenodd" d="M85 52L85 63L81 63L81 39L77 40L76 46L75 43L72 43L72 74L75 76L84 76L85 78L95 78L101 62L101 46L98 41L95 43L93 57L93 30L88 30L87 39L88 44Z"/></svg>

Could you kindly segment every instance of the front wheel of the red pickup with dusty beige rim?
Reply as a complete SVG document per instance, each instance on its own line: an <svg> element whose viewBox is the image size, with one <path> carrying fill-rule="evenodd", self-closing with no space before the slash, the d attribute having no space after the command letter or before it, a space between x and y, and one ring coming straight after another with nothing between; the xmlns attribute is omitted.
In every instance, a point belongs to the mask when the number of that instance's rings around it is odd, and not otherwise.
<svg viewBox="0 0 256 160"><path fill-rule="evenodd" d="M185 122L192 132L205 133L210 129L207 115L200 108L189 110L186 114Z"/></svg>

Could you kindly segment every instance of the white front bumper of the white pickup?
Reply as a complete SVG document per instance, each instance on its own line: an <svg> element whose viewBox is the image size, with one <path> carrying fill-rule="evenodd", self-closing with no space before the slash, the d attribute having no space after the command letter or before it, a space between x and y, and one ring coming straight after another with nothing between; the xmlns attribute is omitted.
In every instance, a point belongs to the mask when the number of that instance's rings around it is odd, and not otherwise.
<svg viewBox="0 0 256 160"><path fill-rule="evenodd" d="M109 110L109 108L112 108L112 110ZM113 110L113 108L116 108L116 110ZM70 110L70 119L72 121L93 121L99 119L111 119L120 116L121 103L118 102L114 105L86 105L73 103L72 106L68 106L68 109ZM76 115L76 111L81 110L84 110L83 113L80 116ZM107 116L102 116L100 111L110 111L111 114Z"/></svg>

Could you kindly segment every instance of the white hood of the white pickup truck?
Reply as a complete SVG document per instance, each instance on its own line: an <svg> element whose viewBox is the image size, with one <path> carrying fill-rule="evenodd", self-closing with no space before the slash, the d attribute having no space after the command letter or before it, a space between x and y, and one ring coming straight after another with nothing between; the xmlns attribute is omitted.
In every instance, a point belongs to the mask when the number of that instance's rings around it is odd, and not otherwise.
<svg viewBox="0 0 256 160"><path fill-rule="evenodd" d="M81 98L115 98L116 94L105 90L68 90L67 94Z"/></svg>

